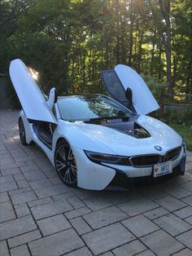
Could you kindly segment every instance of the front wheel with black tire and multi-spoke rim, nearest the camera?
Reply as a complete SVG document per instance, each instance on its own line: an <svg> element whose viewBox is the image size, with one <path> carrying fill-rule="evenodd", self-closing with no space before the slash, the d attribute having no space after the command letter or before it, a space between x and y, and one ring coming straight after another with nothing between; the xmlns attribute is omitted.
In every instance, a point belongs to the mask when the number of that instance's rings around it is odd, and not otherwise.
<svg viewBox="0 0 192 256"><path fill-rule="evenodd" d="M60 140L55 148L55 169L63 183L69 187L76 188L76 158L73 155L72 148L64 139Z"/></svg>

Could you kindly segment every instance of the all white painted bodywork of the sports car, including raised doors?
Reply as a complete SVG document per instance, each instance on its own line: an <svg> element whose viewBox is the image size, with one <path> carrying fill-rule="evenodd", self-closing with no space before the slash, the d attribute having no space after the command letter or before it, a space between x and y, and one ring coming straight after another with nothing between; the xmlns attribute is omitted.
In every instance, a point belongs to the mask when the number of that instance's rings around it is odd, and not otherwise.
<svg viewBox="0 0 192 256"><path fill-rule="evenodd" d="M131 68L130 68L131 69ZM137 73L130 70L124 65L116 66L115 70L126 87L126 81L132 81L133 103L138 113L149 113L159 106L156 104L153 95ZM128 72L128 73L126 73ZM148 138L137 139L132 135L128 135L120 130L112 129L107 126L85 123L84 121L63 121L59 114L58 104L55 104L55 115L51 112L45 97L38 88L37 83L28 74L28 69L21 60L13 60L10 67L11 80L15 86L17 95L24 111L20 112L20 118L24 122L26 133L26 142L32 140L46 153L50 162L55 166L55 148L59 139L65 139L76 158L77 166L77 186L79 188L102 190L106 188L116 175L116 170L120 170L127 177L143 177L150 176L153 167L135 167L120 166L108 163L96 163L90 161L85 151L98 152L103 154L111 154L116 156L133 157L149 154L159 154L164 156L166 152L173 148L180 147L182 138L176 131L172 130L163 122L152 117L144 115L133 116L132 121L141 125L151 136ZM126 89L126 88L125 88ZM147 89L147 90L146 90ZM148 91L149 90L149 91ZM138 94L138 96L136 95ZM140 95L139 95L140 94ZM145 95L145 104L143 106L143 97ZM142 104L140 103L142 102ZM52 107L51 107L52 108ZM37 137L33 130L33 123L29 123L28 119L35 121L46 121L55 124L55 130L52 137L51 148ZM157 152L155 145L162 148ZM177 159L172 161L172 167L177 166L184 155L183 148Z"/></svg>

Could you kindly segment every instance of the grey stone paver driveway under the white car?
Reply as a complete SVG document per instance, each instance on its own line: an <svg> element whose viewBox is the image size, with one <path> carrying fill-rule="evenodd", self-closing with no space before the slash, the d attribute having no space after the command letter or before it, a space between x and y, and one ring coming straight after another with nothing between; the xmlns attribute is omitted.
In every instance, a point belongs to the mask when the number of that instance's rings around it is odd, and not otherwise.
<svg viewBox="0 0 192 256"><path fill-rule="evenodd" d="M130 192L67 188L18 111L1 111L2 256L192 255L192 152L185 176Z"/></svg>

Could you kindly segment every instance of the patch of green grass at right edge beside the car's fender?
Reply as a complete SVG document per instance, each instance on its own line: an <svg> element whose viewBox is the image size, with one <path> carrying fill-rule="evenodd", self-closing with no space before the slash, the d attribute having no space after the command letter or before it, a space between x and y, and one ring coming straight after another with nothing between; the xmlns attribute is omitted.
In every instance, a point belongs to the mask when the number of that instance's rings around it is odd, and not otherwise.
<svg viewBox="0 0 192 256"><path fill-rule="evenodd" d="M168 124L185 139L186 148L192 151L192 126L189 124Z"/></svg>

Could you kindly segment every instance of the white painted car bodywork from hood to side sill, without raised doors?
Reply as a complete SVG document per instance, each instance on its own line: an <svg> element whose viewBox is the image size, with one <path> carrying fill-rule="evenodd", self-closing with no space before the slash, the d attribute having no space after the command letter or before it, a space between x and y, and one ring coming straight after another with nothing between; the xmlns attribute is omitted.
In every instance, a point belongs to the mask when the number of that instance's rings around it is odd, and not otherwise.
<svg viewBox="0 0 192 256"><path fill-rule="evenodd" d="M139 155L157 154L154 145L158 143L163 146L163 150L158 152L163 156L170 149L177 148L182 143L181 136L178 135L177 132L161 121L146 116L140 116L138 120L140 119L140 123L145 123L147 129L151 127L150 130L152 130L154 134L156 133L156 137L159 137L159 141L157 141L157 138L146 138L140 139L139 141L132 136L124 135L113 129L111 129L109 133L109 128L104 126L85 124L82 121L70 124L68 121L59 119L53 137L52 150L50 150L37 138L32 125L28 124L24 113L21 114L21 117L25 119L25 127L28 129L29 134L28 138L33 138L35 143L46 153L46 156L50 159L53 166L55 166L54 153L58 139L63 138L70 143L72 152L74 152L76 156L76 164L78 166L77 185L79 188L85 189L102 190L106 188L116 174L115 169L123 171L129 178L136 178L151 175L153 168L116 166L107 163L103 163L101 166L93 161L89 161L88 157L85 156L84 150L120 156L136 156L138 155L138 151ZM153 129L154 122L155 126L157 126L155 130ZM160 135L158 128L160 128L159 130L164 130ZM164 135L167 136L168 139L164 139L166 138ZM130 148L127 147L128 144ZM173 168L181 161L182 155L183 150L177 160L172 161Z"/></svg>

